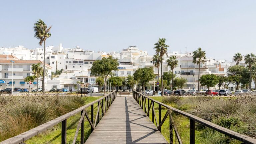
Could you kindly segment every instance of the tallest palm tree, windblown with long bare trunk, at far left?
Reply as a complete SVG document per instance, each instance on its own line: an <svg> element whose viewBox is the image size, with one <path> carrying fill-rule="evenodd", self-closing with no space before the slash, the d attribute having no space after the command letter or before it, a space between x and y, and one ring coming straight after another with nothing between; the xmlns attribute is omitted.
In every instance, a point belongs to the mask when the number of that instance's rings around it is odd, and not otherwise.
<svg viewBox="0 0 256 144"><path fill-rule="evenodd" d="M39 21L36 21L36 23L34 24L34 31L35 31L35 35L34 37L36 37L39 41L39 45L42 46L42 44L44 43L44 68L43 68L43 81L42 81L42 91L44 94L45 91L45 87L44 87L44 79L45 79L45 41L47 38L51 37L51 30L52 26L47 27L47 25L41 20L39 19Z"/></svg>

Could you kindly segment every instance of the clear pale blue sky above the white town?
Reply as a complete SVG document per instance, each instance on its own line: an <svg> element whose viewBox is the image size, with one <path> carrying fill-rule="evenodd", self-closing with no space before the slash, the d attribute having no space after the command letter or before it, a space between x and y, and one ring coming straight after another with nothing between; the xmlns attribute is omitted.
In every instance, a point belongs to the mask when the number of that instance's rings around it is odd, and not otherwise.
<svg viewBox="0 0 256 144"><path fill-rule="evenodd" d="M120 51L129 45L153 54L158 38L168 51L201 47L208 57L231 60L256 54L256 0L2 0L0 47L40 47L33 24L52 25L46 45Z"/></svg>

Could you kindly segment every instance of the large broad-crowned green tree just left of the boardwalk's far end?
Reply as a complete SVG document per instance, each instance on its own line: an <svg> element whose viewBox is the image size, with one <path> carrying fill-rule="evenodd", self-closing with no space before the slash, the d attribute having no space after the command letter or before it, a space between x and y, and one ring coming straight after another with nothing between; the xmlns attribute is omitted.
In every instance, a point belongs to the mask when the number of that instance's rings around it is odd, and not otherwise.
<svg viewBox="0 0 256 144"><path fill-rule="evenodd" d="M118 70L117 66L117 59L113 59L112 56L109 56L108 58L103 57L101 60L96 60L92 64L90 75L103 76L105 79L103 96L105 96L107 77L112 71Z"/></svg>

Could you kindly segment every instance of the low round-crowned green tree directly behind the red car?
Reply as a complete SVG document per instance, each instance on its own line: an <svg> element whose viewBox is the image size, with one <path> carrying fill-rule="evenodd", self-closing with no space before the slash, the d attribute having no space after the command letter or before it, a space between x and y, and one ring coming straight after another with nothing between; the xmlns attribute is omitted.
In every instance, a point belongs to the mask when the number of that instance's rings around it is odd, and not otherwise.
<svg viewBox="0 0 256 144"><path fill-rule="evenodd" d="M202 75L200 77L200 84L207 86L208 90L210 90L210 87L214 87L218 82L218 77L214 74Z"/></svg>

